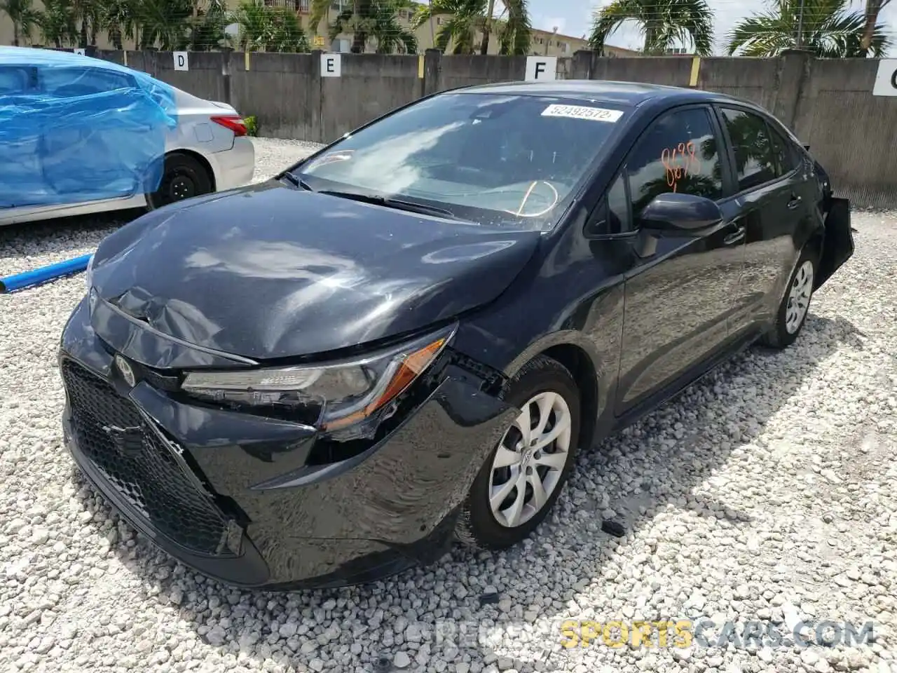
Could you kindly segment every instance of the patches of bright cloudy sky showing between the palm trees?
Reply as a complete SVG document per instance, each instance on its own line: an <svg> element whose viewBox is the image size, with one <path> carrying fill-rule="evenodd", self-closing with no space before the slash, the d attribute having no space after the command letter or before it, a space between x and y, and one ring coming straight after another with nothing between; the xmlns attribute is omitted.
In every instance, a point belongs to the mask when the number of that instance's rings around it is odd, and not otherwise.
<svg viewBox="0 0 897 673"><path fill-rule="evenodd" d="M755 12L762 12L768 0L708 0L710 7L715 11L715 48L714 53L722 55L725 38L729 31L746 16ZM592 22L592 14L596 9L610 4L610 0L529 0L529 12L533 20L533 27L544 31L551 31L557 27L562 35L570 35L579 38L583 34L588 36ZM862 10L863 3L854 0L852 6ZM897 42L897 2L888 4L884 8L880 22L884 22L887 30L892 34L892 39ZM640 48L643 39L640 37L637 25L624 23L607 40L609 44L624 48ZM897 53L897 48L892 48L889 56Z"/></svg>

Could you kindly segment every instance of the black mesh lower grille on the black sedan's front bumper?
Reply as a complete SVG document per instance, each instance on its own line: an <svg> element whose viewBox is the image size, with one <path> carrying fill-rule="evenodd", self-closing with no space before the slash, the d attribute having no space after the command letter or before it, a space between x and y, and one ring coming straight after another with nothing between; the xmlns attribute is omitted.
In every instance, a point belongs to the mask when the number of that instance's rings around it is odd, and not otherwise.
<svg viewBox="0 0 897 673"><path fill-rule="evenodd" d="M207 555L230 555L228 520L191 481L134 404L106 381L65 360L62 378L79 449L153 529Z"/></svg>

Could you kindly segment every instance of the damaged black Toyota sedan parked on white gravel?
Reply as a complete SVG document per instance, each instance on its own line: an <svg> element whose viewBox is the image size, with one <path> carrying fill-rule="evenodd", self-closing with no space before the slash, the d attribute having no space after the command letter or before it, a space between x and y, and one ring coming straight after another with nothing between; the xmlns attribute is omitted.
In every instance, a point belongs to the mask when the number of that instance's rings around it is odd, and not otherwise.
<svg viewBox="0 0 897 673"><path fill-rule="evenodd" d="M852 254L848 202L749 102L443 92L103 240L62 337L66 444L199 572L371 581L526 538L577 450L789 345Z"/></svg>

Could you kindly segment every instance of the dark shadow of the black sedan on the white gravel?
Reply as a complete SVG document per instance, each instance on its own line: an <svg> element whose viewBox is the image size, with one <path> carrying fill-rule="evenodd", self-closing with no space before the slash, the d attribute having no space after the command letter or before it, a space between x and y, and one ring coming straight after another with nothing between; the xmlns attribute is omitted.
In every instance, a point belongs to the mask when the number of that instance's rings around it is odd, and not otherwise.
<svg viewBox="0 0 897 673"><path fill-rule="evenodd" d="M398 644L402 636L394 634L400 618L396 612L390 615L387 608L387 615L375 621L365 610L391 600L394 610L401 602L406 613L414 610L415 614L421 614L440 607L447 615L439 620L418 618L420 628L414 640L426 643L431 658L439 654L446 660L453 657L460 660L459 657L466 654L471 661L483 666L494 662L500 669L513 668L521 673L569 669L567 651L560 645L562 634L558 625L564 619L576 618L583 608L588 607L578 607L576 599L602 576L606 559L614 549L633 546L640 529L649 527L658 514L671 508L689 510L701 517L714 517L734 531L750 524L750 513L713 501L701 486L725 466L733 451L767 450L750 445L771 417L786 405L788 398L823 361L843 345L862 349L863 339L864 335L846 319L811 314L795 345L783 351L754 346L692 384L638 424L614 434L593 450L583 451L553 514L536 535L522 545L501 553L477 552L457 546L438 564L428 568L413 569L385 581L349 589L275 593L237 590L206 580L170 559L144 538L135 537L133 530L113 515L109 505L102 502L74 469L73 479L85 508L94 511L96 503L101 503L99 506L106 520L91 525L99 527L100 533L111 540L110 548L121 563L140 579L142 593L161 606L173 603L181 620L196 629L207 642L218 646L222 654L238 656L246 652L250 657L270 656L283 665L295 665L298 658L294 653L303 645L314 643L316 639L322 642L324 637L332 638L333 643L344 643L348 649L362 633L373 631L376 622L381 621L384 633L390 635L368 634L377 643L379 651L362 651L358 656L364 669L385 673L394 669L391 661L395 651L405 647ZM752 374L752 380L745 379L746 373ZM710 398L714 401L714 409L743 408L741 403L745 395L752 396L757 404L743 417L699 408L702 400ZM713 438L712 441L709 438ZM597 483L605 485L603 492L597 491ZM570 519L564 516L565 512L573 512ZM605 514L611 513L614 520L623 525L623 537L601 532ZM118 533L110 532L115 530ZM121 538L121 533L128 539ZM576 571L566 572L565 555L573 553L569 540L576 536L580 540L586 539L576 545ZM555 542L562 549L560 554L553 551ZM632 551L632 554L636 553L636 550ZM540 555L543 560L547 558L546 566L553 565L555 569L550 587L545 586L542 573L531 571L534 558ZM494 574L497 567L504 571L501 577L509 579L501 580L500 574ZM193 581L189 584L194 589L185 592L187 582L184 578L187 575L191 576ZM466 585L463 590L458 590L460 585L455 585L454 595L441 593L429 606L412 602L424 592L432 593L440 583L462 577L467 578ZM684 584L687 584L687 578ZM414 587L417 596L408 596L409 587ZM493 590L497 595L492 593ZM518 597L526 597L527 604ZM303 611L307 615L325 616L326 611L321 605L328 599L340 606L327 615L323 625L327 628L329 621L328 630L334 630L333 633L322 636L320 630L304 632L300 628L300 634L288 632L284 644L281 635L270 630L271 625L279 628L278 624L283 623L283 616L287 614L299 616L300 620ZM622 600L623 605L630 602L626 597L615 600L617 603ZM534 609L531 605L534 602L541 602L541 607ZM361 626L348 625L347 615L340 614L341 610L348 613L353 605L358 606L353 623ZM240 617L250 612L258 627L256 634L248 635L235 623L242 623ZM209 633L210 618L217 625L214 639ZM319 623L320 619L317 621ZM500 650L502 634L515 629L518 632L538 631L534 621L551 625L550 631L543 629L540 637L535 639L539 643L534 650ZM372 622L375 626L371 626ZM534 642L532 637L529 640ZM280 643L279 651L268 654L275 642ZM423 647L423 644L417 644L418 651ZM414 651L409 654L412 657L409 670L419 668L421 664L414 661ZM381 665L378 665L379 656L383 658ZM326 657L322 655L322 658ZM358 670L354 666L351 668ZM423 665L424 670L430 668ZM348 661L345 669L350 669Z"/></svg>

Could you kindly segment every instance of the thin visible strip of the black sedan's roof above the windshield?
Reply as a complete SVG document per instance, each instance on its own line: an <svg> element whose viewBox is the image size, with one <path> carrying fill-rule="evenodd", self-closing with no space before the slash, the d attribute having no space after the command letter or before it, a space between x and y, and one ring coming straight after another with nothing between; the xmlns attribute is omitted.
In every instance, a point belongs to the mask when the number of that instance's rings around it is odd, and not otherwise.
<svg viewBox="0 0 897 673"><path fill-rule="evenodd" d="M549 96L582 101L613 102L618 105L638 107L648 101L668 103L699 101L732 101L742 104L754 103L726 96L720 93L705 92L700 89L686 89L664 84L648 84L640 82L608 82L605 80L554 80L553 82L507 82L495 84L475 84L445 93L497 93L518 96Z"/></svg>

